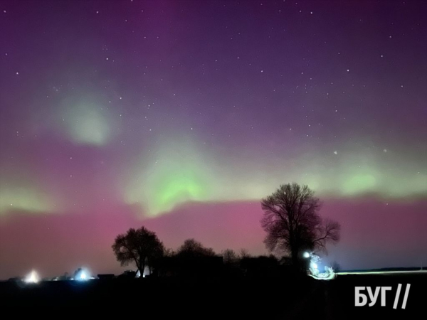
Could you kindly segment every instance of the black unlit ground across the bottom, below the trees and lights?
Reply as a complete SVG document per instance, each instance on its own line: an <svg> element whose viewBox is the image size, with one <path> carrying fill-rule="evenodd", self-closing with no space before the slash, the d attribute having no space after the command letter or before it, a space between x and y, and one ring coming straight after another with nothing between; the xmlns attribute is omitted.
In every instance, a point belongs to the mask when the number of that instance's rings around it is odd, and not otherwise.
<svg viewBox="0 0 427 320"><path fill-rule="evenodd" d="M397 309L398 284L403 284ZM401 309L406 284L406 309ZM381 306L354 306L354 287L392 287ZM211 279L111 279L87 282L0 282L0 305L23 308L90 307L99 311L139 310L155 316L261 316L261 319L418 319L427 302L427 274L339 275L332 281L310 277ZM364 291L367 294L367 291ZM368 297L368 302L370 299ZM423 318L423 317L421 317Z"/></svg>

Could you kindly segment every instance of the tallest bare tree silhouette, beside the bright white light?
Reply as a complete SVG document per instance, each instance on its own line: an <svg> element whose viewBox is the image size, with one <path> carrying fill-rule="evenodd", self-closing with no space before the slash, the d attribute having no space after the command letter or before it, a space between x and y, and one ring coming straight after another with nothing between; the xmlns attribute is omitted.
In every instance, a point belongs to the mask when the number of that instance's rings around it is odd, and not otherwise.
<svg viewBox="0 0 427 320"><path fill-rule="evenodd" d="M281 185L263 198L261 225L267 233L264 242L268 250L290 253L293 265L300 267L303 250L326 250L326 242L337 242L340 225L333 220L322 220L320 207L314 192L297 183Z"/></svg>

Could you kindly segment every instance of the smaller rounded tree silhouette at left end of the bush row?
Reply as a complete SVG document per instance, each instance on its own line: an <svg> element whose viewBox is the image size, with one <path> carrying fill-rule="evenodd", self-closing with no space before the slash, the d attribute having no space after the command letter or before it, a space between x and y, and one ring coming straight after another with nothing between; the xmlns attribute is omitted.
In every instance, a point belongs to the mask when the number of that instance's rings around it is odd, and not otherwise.
<svg viewBox="0 0 427 320"><path fill-rule="evenodd" d="M145 227L137 230L131 228L125 235L117 235L112 250L120 265L135 262L141 276L145 267L149 267L151 273L152 266L164 254L163 243Z"/></svg>

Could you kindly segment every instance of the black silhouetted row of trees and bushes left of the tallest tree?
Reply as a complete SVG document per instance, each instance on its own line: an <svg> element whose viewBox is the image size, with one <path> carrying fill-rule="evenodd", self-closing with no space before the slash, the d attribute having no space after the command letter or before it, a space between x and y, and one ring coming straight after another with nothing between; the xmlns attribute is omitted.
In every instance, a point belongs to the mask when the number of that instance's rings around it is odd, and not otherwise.
<svg viewBox="0 0 427 320"><path fill-rule="evenodd" d="M254 257L244 249L217 254L194 239L185 240L176 251L166 249L157 235L145 227L118 235L112 249L121 265L135 264L139 274L149 277L263 277L290 270L290 259L286 257Z"/></svg>

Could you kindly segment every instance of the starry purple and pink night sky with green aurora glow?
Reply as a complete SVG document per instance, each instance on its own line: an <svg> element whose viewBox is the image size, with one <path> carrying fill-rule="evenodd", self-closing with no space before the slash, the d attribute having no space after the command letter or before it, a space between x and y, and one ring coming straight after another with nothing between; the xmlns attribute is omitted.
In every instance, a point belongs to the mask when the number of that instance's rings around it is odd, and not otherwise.
<svg viewBox="0 0 427 320"><path fill-rule="evenodd" d="M425 1L0 1L0 279L145 225L264 254L307 183L344 269L427 265Z"/></svg>

